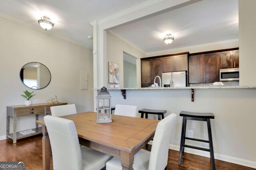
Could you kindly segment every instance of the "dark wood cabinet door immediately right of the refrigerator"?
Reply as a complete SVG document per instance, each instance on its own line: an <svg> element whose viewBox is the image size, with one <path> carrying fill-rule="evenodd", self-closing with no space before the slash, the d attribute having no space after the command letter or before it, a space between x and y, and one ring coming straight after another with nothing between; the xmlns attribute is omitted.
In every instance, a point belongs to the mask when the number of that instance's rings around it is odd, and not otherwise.
<svg viewBox="0 0 256 170"><path fill-rule="evenodd" d="M202 83L203 55L189 56L188 64L189 83Z"/></svg>

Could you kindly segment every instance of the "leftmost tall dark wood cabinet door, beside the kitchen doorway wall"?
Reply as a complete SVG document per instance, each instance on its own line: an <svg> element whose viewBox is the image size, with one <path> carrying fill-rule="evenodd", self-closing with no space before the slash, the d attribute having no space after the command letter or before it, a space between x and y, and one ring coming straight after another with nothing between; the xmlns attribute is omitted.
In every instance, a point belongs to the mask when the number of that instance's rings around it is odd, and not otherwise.
<svg viewBox="0 0 256 170"><path fill-rule="evenodd" d="M151 60L142 60L141 61L141 84L151 83Z"/></svg>

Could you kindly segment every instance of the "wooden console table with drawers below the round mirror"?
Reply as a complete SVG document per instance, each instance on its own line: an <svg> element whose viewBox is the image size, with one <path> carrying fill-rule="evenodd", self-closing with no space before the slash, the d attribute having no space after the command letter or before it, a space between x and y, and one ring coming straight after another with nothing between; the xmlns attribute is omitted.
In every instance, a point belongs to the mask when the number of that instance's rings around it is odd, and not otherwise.
<svg viewBox="0 0 256 170"><path fill-rule="evenodd" d="M28 135L22 135L20 132L17 132L17 117L36 115L36 120L38 120L39 114L51 113L50 107L66 105L68 103L56 103L56 104L32 104L30 106L19 105L19 106L7 106L6 107L6 138L12 139L12 143L16 143L17 139L22 139L25 137L30 137L42 133L42 127L38 127L36 123L36 128L31 129L35 131ZM13 133L10 133L10 117L13 117Z"/></svg>

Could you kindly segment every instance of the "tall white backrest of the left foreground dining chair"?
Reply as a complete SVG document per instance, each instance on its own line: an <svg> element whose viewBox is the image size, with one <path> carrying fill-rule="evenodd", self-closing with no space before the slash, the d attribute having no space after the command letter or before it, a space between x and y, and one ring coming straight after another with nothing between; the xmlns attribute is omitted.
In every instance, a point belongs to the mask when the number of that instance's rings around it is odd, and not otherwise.
<svg viewBox="0 0 256 170"><path fill-rule="evenodd" d="M72 120L47 115L44 122L52 147L54 170L82 170L82 154Z"/></svg>

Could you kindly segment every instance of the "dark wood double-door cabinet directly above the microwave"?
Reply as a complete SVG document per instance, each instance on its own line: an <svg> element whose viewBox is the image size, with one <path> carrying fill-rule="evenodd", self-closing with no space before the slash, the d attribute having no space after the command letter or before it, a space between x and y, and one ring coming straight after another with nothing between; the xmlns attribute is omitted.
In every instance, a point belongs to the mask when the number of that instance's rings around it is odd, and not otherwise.
<svg viewBox="0 0 256 170"><path fill-rule="evenodd" d="M220 52L220 69L239 68L239 50Z"/></svg>

